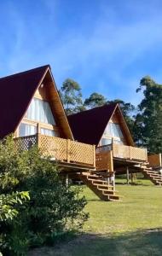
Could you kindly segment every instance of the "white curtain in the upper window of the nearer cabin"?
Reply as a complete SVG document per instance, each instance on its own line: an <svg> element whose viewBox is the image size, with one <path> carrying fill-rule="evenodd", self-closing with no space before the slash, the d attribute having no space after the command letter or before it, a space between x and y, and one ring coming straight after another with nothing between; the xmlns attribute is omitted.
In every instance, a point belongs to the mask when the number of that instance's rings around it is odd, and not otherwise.
<svg viewBox="0 0 162 256"><path fill-rule="evenodd" d="M55 119L48 102L33 98L27 109L26 118L45 124L55 125Z"/></svg>

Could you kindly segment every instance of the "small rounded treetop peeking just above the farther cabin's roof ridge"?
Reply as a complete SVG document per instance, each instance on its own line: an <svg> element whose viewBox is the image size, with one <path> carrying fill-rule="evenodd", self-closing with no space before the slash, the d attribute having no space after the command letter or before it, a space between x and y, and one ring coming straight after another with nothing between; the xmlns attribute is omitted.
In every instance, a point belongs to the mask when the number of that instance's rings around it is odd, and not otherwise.
<svg viewBox="0 0 162 256"><path fill-rule="evenodd" d="M95 108L105 105L107 103L107 99L101 94L94 92L90 95L89 98L86 98L84 101L84 106L87 108Z"/></svg>

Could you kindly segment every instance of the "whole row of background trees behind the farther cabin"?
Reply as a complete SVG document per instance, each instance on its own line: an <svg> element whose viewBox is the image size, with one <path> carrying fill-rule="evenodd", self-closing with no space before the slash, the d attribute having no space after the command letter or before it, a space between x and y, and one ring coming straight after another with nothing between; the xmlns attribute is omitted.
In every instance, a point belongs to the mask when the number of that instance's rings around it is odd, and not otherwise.
<svg viewBox="0 0 162 256"><path fill-rule="evenodd" d="M142 78L136 92L142 90L144 97L139 106L135 108L130 102L124 102L120 99L107 101L105 96L97 92L87 97L83 104L81 93L78 94L79 99L77 101L75 94L73 94L73 91L81 92L80 86L75 84L67 86L67 81L68 79L61 87L61 93L63 91L67 94L66 97L64 95L63 101L67 113L77 113L86 108L100 107L113 102L119 103L124 119L130 128L137 146L148 148L150 153L162 152L162 84L156 83L149 76ZM67 108L67 102L68 104L74 104L74 107Z"/></svg>

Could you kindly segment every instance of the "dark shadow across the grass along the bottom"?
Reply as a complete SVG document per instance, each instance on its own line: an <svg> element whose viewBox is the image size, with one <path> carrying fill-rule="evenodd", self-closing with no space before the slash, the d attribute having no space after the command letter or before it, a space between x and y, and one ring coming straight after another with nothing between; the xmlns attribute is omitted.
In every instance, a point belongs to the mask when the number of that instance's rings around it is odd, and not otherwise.
<svg viewBox="0 0 162 256"><path fill-rule="evenodd" d="M162 254L162 230L142 230L119 236L83 234L29 256L149 256Z"/></svg>

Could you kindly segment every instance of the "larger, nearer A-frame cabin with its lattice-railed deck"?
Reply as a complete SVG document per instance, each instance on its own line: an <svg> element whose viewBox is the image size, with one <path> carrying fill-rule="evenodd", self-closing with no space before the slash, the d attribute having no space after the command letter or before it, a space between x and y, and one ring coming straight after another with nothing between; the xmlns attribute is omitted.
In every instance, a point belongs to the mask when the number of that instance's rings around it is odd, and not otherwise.
<svg viewBox="0 0 162 256"><path fill-rule="evenodd" d="M49 65L0 79L0 138L23 150L38 144L62 172L95 170L95 147L73 140Z"/></svg>

